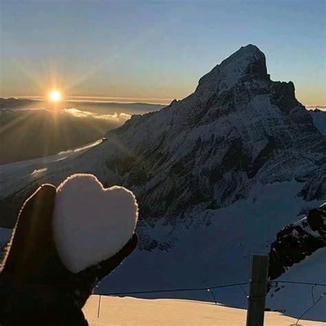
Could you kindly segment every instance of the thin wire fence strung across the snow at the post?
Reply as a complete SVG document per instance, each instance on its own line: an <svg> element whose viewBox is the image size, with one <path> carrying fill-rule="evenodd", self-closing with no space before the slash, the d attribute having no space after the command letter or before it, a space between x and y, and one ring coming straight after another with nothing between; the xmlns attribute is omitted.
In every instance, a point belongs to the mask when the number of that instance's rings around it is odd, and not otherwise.
<svg viewBox="0 0 326 326"><path fill-rule="evenodd" d="M240 287L243 294L246 295L246 298L248 301L254 300L261 297L255 297L255 296L249 296L246 290L243 288L243 285L249 285L250 283L254 282L241 282L241 283L228 283L228 284L221 284L221 285L214 285L210 287L188 287L188 288L175 288L175 289L160 289L160 290L146 290L146 291L131 291L131 292L109 292L109 293L101 293L99 295L99 301L98 301L98 318L100 317L100 298L101 296L126 296L126 295L133 295L133 294L153 294L153 293L164 293L164 292L194 292L194 291L207 291L213 296L213 300L215 305L217 305L217 300L215 297L215 294L213 290L222 289L222 288L228 288L228 287ZM294 325L298 325L298 322L311 310L315 305L320 303L322 298L326 296L326 292L323 292L323 294L320 295L320 297L316 300L314 296L314 288L315 287L325 287L326 283L311 283L311 282L301 282L301 281L268 281L269 285L272 285L273 283L279 284L279 283L287 283L291 285L311 285L311 296L312 296L312 305L309 305L307 309L298 317L296 320L296 323ZM268 296L268 292L265 294L265 296Z"/></svg>

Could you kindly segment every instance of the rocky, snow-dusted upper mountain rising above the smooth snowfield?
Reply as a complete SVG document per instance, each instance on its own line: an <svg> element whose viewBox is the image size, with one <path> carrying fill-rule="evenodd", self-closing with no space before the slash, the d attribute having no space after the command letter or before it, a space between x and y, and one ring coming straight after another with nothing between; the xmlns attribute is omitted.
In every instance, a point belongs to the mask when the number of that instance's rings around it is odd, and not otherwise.
<svg viewBox="0 0 326 326"><path fill-rule="evenodd" d="M155 217L171 219L228 206L257 182L314 179L300 195L326 195L325 137L296 100L293 83L270 80L254 45L213 68L191 96L132 117L107 138L122 146L106 165L138 194L143 218L154 208Z"/></svg>

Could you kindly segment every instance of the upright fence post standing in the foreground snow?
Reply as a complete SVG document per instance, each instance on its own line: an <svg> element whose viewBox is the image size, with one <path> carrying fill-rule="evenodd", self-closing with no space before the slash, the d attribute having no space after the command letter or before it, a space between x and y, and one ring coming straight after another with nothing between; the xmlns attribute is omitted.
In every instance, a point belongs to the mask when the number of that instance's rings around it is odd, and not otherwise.
<svg viewBox="0 0 326 326"><path fill-rule="evenodd" d="M268 279L268 256L252 255L247 326L263 326Z"/></svg>

